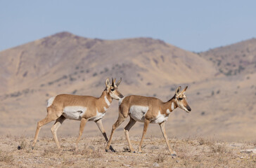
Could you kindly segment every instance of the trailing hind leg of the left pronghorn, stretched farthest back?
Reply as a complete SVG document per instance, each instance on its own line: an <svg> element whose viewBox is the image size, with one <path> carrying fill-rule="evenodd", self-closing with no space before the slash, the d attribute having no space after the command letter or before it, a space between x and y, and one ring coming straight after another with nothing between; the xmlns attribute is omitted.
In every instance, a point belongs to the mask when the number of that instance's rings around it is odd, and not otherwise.
<svg viewBox="0 0 256 168"><path fill-rule="evenodd" d="M41 129L41 127L43 125L46 125L48 123L50 123L51 121L53 120L57 120L58 116L56 115L56 113L48 113L46 118L44 118L43 120L40 120L38 123L37 123L37 130L36 130L36 133L34 135L34 142L32 144L32 149L34 148L35 144L37 143L37 139L38 139L38 134L39 134L39 131Z"/></svg>

